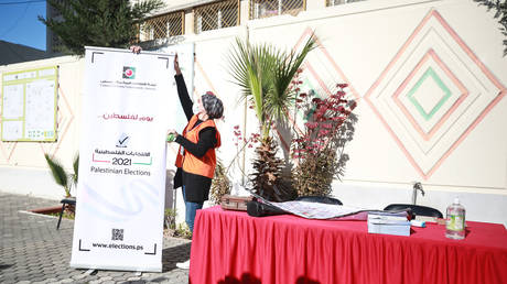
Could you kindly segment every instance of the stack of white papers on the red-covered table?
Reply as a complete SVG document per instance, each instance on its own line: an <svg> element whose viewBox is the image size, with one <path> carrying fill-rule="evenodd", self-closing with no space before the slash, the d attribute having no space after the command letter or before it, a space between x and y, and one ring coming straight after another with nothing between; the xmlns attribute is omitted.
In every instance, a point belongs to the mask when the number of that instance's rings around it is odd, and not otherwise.
<svg viewBox="0 0 507 284"><path fill-rule="evenodd" d="M368 232L410 236L410 221L407 212L369 211Z"/></svg>

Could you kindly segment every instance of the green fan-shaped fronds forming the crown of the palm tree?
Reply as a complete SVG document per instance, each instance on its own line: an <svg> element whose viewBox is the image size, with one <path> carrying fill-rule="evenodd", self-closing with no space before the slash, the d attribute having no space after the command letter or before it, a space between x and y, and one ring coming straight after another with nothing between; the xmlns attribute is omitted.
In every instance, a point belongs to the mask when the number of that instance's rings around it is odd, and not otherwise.
<svg viewBox="0 0 507 284"><path fill-rule="evenodd" d="M254 105L262 138L269 136L271 121L285 121L294 101L290 85L306 55L316 46L312 34L300 53L287 53L270 44L252 45L236 39L228 61L233 83L241 89L241 99Z"/></svg>

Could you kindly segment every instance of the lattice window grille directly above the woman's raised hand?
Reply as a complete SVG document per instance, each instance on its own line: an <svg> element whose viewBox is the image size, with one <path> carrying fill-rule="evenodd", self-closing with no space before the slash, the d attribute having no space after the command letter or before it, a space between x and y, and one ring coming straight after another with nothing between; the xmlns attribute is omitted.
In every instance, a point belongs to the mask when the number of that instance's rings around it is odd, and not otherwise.
<svg viewBox="0 0 507 284"><path fill-rule="evenodd" d="M185 13L183 11L155 15L141 25L141 41L152 41L181 35L184 31Z"/></svg>

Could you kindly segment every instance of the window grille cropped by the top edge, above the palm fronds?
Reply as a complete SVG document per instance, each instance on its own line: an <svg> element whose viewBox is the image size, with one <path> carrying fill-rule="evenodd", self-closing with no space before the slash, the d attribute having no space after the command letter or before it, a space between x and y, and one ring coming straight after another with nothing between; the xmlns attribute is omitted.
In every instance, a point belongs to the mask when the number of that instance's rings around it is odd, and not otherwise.
<svg viewBox="0 0 507 284"><path fill-rule="evenodd" d="M280 14L296 15L306 9L306 0L250 0L250 20Z"/></svg>

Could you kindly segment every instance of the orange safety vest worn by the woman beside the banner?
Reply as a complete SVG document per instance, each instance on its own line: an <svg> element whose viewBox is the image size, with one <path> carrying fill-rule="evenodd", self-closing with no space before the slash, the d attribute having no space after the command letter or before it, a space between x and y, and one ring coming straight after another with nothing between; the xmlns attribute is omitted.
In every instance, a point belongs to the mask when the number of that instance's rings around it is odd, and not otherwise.
<svg viewBox="0 0 507 284"><path fill-rule="evenodd" d="M195 122L197 122L198 118L197 114L192 116L188 124L186 124L185 129L183 130L183 136L186 138L188 141L193 143L197 143L198 141L198 132L202 129L213 127L216 129L215 121L213 119L208 119L206 121L201 122L197 127ZM218 133L218 129L216 129L216 146L220 146L220 133ZM207 176L213 178L215 175L215 167L216 167L216 154L215 148L209 149L206 154L202 157L196 157L188 151L183 152L183 148L180 145L180 150L177 151L176 156L176 166L182 167L183 171L186 173L192 173L196 175Z"/></svg>

